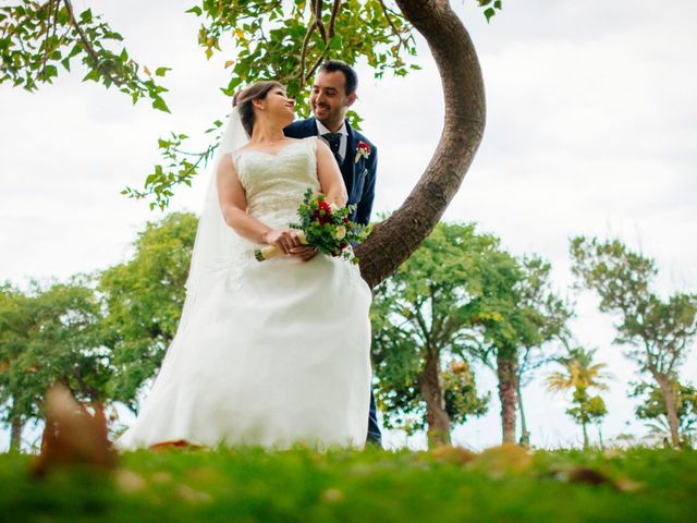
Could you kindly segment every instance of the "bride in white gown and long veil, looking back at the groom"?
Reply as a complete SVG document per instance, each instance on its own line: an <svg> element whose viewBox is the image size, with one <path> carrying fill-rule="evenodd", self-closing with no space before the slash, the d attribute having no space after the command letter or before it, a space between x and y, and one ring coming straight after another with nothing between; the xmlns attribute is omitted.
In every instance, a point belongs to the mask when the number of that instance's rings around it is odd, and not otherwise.
<svg viewBox="0 0 697 523"><path fill-rule="evenodd" d="M277 82L235 96L192 256L186 301L121 449L185 440L362 448L370 400L370 290L358 268L289 229L307 187L339 206L329 147L284 137L294 100ZM262 263L259 244L284 256Z"/></svg>

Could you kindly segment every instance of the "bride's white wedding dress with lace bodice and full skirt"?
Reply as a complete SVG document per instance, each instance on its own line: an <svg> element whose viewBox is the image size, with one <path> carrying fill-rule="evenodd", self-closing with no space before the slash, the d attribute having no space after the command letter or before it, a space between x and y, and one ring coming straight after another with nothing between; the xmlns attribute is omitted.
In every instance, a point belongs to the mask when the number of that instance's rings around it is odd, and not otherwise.
<svg viewBox="0 0 697 523"><path fill-rule="evenodd" d="M297 221L319 190L317 138L278 155L232 153L248 212L272 228ZM256 262L230 232L228 262L184 308L159 375L120 449L184 439L210 447L325 449L365 445L371 294L358 267L318 255ZM187 311L188 307L188 311Z"/></svg>

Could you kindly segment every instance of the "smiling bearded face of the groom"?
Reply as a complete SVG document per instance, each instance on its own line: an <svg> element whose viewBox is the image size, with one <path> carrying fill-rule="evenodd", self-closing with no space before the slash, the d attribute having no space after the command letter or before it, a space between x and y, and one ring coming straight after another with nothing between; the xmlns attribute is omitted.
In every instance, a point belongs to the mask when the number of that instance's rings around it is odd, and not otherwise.
<svg viewBox="0 0 697 523"><path fill-rule="evenodd" d="M355 93L346 95L346 78L344 77L344 73L341 71L320 71L313 84L309 105L315 118L325 125L328 127L335 125L341 126L346 110L355 99ZM334 131L333 129L330 130Z"/></svg>

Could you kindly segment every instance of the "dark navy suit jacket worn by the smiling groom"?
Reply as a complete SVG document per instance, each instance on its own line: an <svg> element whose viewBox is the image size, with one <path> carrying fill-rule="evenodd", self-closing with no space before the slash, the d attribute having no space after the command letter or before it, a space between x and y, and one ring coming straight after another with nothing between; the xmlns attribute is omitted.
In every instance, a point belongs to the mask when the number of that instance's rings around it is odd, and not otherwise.
<svg viewBox="0 0 697 523"><path fill-rule="evenodd" d="M357 223L368 224L375 199L375 173L378 169L378 149L372 143L346 122L348 137L346 141L346 157L339 168L346 184L348 205L357 204L358 207L351 215L351 219ZM307 138L317 136L317 123L315 118L298 120L283 130L291 138ZM358 143L365 142L370 147L368 158L360 156L356 159Z"/></svg>

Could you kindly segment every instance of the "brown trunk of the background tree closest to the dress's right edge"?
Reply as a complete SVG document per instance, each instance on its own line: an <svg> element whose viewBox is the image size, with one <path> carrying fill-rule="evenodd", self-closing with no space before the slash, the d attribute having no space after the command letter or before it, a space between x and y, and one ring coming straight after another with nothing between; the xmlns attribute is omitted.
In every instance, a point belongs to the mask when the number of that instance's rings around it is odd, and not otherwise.
<svg viewBox="0 0 697 523"><path fill-rule="evenodd" d="M445 388L438 352L427 353L420 378L421 397L426 401L428 448L450 445L450 416L445 411Z"/></svg>

